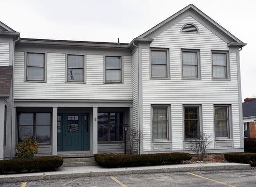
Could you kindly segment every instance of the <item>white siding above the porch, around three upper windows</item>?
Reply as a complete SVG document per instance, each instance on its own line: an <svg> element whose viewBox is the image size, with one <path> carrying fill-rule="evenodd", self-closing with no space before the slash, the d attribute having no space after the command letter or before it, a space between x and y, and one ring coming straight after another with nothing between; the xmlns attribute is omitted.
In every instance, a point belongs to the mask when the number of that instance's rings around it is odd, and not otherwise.
<svg viewBox="0 0 256 187"><path fill-rule="evenodd" d="M86 83L65 83L65 54L47 53L47 82L24 82L24 52L15 52L15 99L132 100L131 57L123 57L124 84L104 84L103 55L86 56Z"/></svg>

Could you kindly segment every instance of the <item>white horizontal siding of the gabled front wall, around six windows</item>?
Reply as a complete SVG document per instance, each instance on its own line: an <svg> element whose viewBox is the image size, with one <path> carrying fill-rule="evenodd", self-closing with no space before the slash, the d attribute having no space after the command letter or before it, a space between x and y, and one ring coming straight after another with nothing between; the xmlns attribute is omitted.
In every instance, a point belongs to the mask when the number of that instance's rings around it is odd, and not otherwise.
<svg viewBox="0 0 256 187"><path fill-rule="evenodd" d="M181 33L187 23L195 24L200 34ZM214 149L214 104L231 105L233 148L241 148L239 122L239 88L236 53L230 55L230 80L212 80L211 50L229 50L227 43L188 16L154 38L151 48L169 48L170 80L150 79L150 50L142 49L143 76L143 151L151 150L151 105L171 105L172 150L183 147L183 104L202 105L203 132L211 135L210 149ZM200 50L201 80L182 79L181 49Z"/></svg>

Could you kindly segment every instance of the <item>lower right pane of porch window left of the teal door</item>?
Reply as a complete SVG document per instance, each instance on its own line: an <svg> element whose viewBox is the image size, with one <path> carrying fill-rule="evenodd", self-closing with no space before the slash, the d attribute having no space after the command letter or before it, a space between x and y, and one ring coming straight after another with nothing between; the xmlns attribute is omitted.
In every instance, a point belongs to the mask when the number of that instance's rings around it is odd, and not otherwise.
<svg viewBox="0 0 256 187"><path fill-rule="evenodd" d="M38 144L51 143L51 126L40 125L36 126L36 139Z"/></svg>

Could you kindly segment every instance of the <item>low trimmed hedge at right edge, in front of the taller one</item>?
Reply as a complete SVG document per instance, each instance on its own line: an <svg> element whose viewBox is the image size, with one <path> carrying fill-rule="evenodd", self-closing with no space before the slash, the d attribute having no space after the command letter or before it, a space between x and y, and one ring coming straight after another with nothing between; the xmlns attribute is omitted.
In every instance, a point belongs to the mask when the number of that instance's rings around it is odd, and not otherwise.
<svg viewBox="0 0 256 187"><path fill-rule="evenodd" d="M250 164L256 166L256 153L226 153L225 158L229 162Z"/></svg>

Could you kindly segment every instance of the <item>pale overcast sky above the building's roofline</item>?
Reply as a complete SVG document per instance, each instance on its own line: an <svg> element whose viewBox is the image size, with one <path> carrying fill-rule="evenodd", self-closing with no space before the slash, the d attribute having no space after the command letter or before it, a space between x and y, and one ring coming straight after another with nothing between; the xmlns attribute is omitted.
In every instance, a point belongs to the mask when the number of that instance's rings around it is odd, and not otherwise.
<svg viewBox="0 0 256 187"><path fill-rule="evenodd" d="M248 43L242 100L256 96L256 0L0 0L0 21L23 38L129 43L190 3Z"/></svg>

